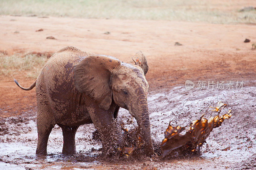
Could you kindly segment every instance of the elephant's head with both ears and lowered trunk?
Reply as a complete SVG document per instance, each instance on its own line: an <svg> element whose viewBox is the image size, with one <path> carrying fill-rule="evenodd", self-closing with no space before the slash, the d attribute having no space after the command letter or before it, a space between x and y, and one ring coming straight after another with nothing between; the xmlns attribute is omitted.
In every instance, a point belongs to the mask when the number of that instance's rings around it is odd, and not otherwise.
<svg viewBox="0 0 256 170"><path fill-rule="evenodd" d="M144 140L144 151L153 154L148 113L148 71L146 57L141 51L132 60L135 64L120 62L112 56L91 55L74 67L74 83L79 92L85 93L108 110L116 105L129 110L135 117Z"/></svg>

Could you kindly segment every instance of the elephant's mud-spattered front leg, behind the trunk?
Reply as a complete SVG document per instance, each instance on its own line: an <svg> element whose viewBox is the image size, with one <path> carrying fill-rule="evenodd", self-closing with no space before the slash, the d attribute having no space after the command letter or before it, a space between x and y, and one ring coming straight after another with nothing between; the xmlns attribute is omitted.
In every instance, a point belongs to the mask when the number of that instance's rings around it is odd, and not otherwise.
<svg viewBox="0 0 256 170"><path fill-rule="evenodd" d="M100 133L103 154L111 155L117 152L117 148L124 145L124 138L121 126L114 118L114 110L112 112L111 108L109 110L93 108L90 116Z"/></svg>

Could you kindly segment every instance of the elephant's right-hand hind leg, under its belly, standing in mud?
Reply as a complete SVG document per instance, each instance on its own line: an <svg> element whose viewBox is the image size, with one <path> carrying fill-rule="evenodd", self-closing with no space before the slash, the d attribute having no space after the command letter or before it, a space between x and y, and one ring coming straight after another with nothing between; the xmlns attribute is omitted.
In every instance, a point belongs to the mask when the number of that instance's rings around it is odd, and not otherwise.
<svg viewBox="0 0 256 170"><path fill-rule="evenodd" d="M62 154L75 154L76 153L76 143L75 136L76 130L79 126L65 126L58 124L62 129L63 134L63 149Z"/></svg>

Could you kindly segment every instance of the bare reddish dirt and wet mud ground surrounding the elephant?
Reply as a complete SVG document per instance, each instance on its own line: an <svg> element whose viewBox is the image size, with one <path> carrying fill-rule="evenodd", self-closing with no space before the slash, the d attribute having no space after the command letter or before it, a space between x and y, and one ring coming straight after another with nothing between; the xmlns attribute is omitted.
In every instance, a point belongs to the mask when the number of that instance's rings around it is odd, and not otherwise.
<svg viewBox="0 0 256 170"><path fill-rule="evenodd" d="M22 91L12 80L29 86L34 79L26 72L0 76L0 167L29 169L242 169L255 168L255 73L256 25L217 25L178 21L144 21L82 18L39 18L0 16L0 51L54 53L76 46L98 54L113 55L132 63L141 50L148 60L152 137L156 142L174 117L178 125L198 119L209 105L227 103L231 119L214 129L202 153L167 161L147 159L104 162L97 159L100 142L92 139L93 125L78 129L79 154L60 156L62 133L57 126L50 135L46 158L36 158L35 89ZM36 32L38 29L43 31ZM109 34L106 34L109 32ZM46 39L53 36L56 40ZM251 40L244 43L244 39ZM180 42L181 46L175 46ZM196 89L184 83L198 81L238 81L243 88ZM216 86L215 86L216 87ZM120 116L128 113L120 110ZM159 121L158 121L159 120ZM163 121L163 122L162 122ZM158 123L159 122L159 123ZM135 123L136 124L136 123ZM90 131L90 132L89 132ZM94 149L92 149L94 148ZM228 148L228 149L227 149ZM96 150L96 151L94 151ZM94 152L92 152L94 151ZM134 164L136 162L136 165Z"/></svg>

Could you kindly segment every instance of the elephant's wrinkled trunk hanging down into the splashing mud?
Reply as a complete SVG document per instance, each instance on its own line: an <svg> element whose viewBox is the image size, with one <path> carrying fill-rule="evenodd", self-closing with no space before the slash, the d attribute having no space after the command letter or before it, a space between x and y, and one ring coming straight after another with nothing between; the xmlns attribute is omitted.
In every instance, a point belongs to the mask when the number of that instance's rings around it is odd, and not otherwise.
<svg viewBox="0 0 256 170"><path fill-rule="evenodd" d="M147 97L139 101L139 106L134 115L140 129L140 135L144 141L144 151L148 156L153 155L154 151L150 132Z"/></svg>

